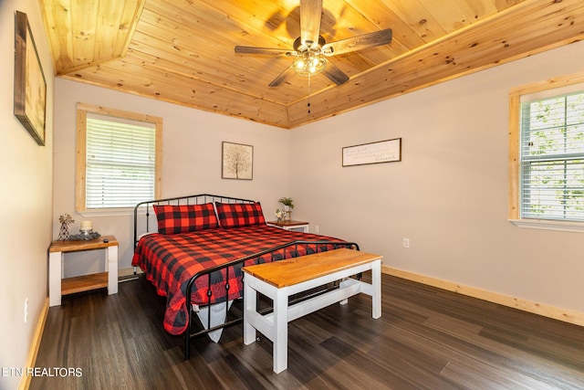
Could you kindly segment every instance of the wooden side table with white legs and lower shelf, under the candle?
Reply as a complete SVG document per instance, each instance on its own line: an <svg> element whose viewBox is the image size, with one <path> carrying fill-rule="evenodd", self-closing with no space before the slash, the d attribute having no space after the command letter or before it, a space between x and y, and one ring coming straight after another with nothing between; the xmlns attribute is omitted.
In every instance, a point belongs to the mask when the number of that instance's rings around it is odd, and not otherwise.
<svg viewBox="0 0 584 390"><path fill-rule="evenodd" d="M108 294L118 293L118 240L102 236L87 241L53 241L48 248L48 303L59 306L61 296L75 292L108 288ZM65 253L105 249L105 272L63 279Z"/></svg>

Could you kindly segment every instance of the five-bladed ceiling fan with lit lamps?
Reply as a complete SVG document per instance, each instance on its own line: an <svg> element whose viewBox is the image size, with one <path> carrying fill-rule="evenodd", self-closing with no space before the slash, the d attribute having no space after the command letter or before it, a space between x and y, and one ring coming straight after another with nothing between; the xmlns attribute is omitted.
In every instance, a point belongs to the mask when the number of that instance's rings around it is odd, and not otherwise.
<svg viewBox="0 0 584 390"><path fill-rule="evenodd" d="M269 83L270 87L281 85L295 73L312 76L320 72L335 84L340 85L347 82L349 76L328 61L327 57L391 42L391 28L386 28L327 43L323 37L320 37L321 15L322 0L300 0L300 37L294 41L293 49L235 46L235 53L293 57L292 65L272 80Z"/></svg>

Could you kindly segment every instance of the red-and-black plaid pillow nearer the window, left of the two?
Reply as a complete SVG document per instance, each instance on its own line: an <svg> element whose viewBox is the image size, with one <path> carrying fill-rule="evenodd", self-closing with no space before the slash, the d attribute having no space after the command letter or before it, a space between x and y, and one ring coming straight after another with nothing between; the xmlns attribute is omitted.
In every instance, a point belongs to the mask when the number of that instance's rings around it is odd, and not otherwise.
<svg viewBox="0 0 584 390"><path fill-rule="evenodd" d="M204 205L154 205L158 232L175 234L218 227L212 203Z"/></svg>

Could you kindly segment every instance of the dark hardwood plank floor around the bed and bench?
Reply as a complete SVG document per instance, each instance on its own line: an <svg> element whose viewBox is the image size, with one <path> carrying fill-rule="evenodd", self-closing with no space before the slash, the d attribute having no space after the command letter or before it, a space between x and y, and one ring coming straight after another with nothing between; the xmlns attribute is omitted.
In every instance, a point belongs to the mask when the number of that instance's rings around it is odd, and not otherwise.
<svg viewBox="0 0 584 390"><path fill-rule="evenodd" d="M164 300L149 282L64 297L51 308L31 389L582 389L584 328L383 275L381 319L357 296L289 324L288 369L272 344L245 346L242 326L220 343L162 329Z"/></svg>

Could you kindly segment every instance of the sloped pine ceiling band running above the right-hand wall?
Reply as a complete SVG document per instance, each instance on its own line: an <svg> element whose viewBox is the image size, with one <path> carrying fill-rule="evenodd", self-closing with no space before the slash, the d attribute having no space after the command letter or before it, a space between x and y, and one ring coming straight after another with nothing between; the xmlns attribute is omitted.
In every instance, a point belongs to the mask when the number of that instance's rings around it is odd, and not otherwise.
<svg viewBox="0 0 584 390"><path fill-rule="evenodd" d="M517 26L513 23L515 20L521 20L522 25ZM530 30L532 25L540 26L539 33ZM318 93L311 97L309 115L306 100L295 102L288 108L290 127L355 110L583 38L584 2L527 1L370 69L345 85ZM455 57L451 58L448 53L455 53Z"/></svg>

